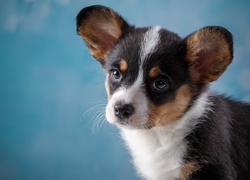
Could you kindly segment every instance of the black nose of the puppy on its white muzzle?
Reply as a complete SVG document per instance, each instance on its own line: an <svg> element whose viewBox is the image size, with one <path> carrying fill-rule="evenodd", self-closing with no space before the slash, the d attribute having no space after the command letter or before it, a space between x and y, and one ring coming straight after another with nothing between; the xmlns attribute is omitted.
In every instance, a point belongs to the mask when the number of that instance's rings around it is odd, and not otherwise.
<svg viewBox="0 0 250 180"><path fill-rule="evenodd" d="M114 106L114 112L116 117L120 120L128 119L134 113L134 107L131 104L124 104L118 102Z"/></svg>

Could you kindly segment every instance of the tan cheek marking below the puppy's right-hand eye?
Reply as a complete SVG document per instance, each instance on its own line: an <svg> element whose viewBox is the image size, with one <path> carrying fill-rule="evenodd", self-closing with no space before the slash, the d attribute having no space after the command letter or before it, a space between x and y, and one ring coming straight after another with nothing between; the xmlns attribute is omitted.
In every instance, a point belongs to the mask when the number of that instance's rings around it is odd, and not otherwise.
<svg viewBox="0 0 250 180"><path fill-rule="evenodd" d="M164 126L176 121L186 110L191 99L190 88L187 85L180 87L173 101L161 106L149 102L149 120L147 126Z"/></svg>

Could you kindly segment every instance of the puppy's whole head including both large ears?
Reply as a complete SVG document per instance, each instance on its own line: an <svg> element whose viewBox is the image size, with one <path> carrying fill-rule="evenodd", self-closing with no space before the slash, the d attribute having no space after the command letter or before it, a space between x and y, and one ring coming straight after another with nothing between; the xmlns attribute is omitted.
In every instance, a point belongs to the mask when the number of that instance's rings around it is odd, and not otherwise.
<svg viewBox="0 0 250 180"><path fill-rule="evenodd" d="M222 27L182 39L158 26L130 26L103 6L82 9L77 32L106 71L106 117L119 127L177 121L233 58L232 36Z"/></svg>

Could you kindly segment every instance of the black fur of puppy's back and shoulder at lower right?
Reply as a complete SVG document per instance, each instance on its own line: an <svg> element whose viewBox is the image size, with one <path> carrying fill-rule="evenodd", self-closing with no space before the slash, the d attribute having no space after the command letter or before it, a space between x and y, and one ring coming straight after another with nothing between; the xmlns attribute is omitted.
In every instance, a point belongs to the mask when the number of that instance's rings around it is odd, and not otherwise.
<svg viewBox="0 0 250 180"><path fill-rule="evenodd" d="M221 95L188 141L187 161L200 169L190 179L246 180L250 177L250 105Z"/></svg>

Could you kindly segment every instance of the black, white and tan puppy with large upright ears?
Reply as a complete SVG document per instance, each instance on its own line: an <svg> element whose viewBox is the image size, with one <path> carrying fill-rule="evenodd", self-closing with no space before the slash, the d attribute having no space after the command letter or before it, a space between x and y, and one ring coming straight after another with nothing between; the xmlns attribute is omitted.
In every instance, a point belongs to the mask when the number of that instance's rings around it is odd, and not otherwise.
<svg viewBox="0 0 250 180"><path fill-rule="evenodd" d="M106 118L142 178L250 178L250 105L209 90L233 59L233 39L207 26L182 39L138 28L104 6L82 9L77 33L106 72Z"/></svg>

